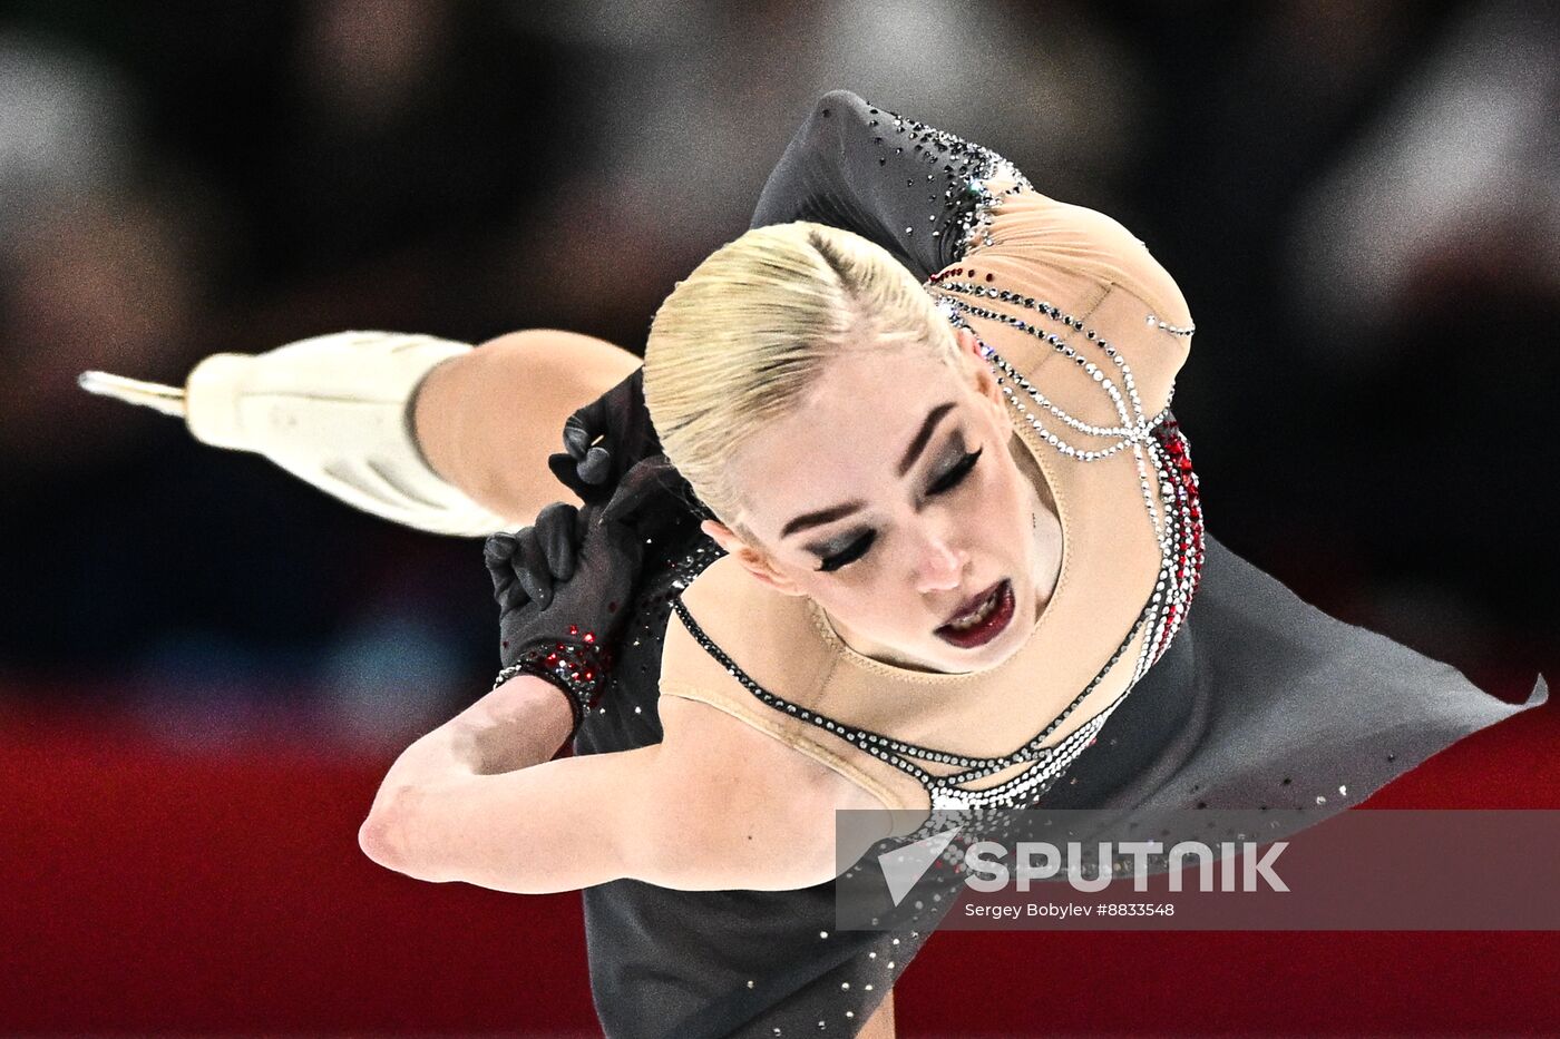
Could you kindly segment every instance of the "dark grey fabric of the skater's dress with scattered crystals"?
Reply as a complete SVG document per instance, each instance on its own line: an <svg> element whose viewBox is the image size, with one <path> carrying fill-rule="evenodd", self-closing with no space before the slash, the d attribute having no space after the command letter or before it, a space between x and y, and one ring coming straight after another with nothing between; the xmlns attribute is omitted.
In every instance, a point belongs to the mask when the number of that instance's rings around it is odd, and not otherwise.
<svg viewBox="0 0 1560 1039"><path fill-rule="evenodd" d="M833 92L797 131L753 226L817 220L889 248L917 278L980 232L970 181L1000 156ZM922 128L928 131L930 128ZM1190 423L1195 434L1195 418ZM668 496L618 668L576 754L661 739L657 679L671 601L721 551ZM1512 705L1455 669L1343 624L1206 538L1197 599L1164 657L1041 800L1047 808L1306 808L1363 800ZM1317 791L1346 786L1326 803ZM894 931L835 931L835 881L800 891L583 891L591 989L608 1036L852 1036L953 900Z"/></svg>

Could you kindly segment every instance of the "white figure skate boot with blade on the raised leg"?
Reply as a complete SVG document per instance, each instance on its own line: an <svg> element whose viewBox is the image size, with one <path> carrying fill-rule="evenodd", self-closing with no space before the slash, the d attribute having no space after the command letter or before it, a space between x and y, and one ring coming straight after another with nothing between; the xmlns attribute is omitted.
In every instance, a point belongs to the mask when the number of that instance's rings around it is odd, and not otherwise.
<svg viewBox="0 0 1560 1039"><path fill-rule="evenodd" d="M81 387L184 418L201 443L262 454L349 505L432 534L513 524L446 482L412 435L412 399L441 360L473 349L432 335L337 332L270 353L212 354L183 390L103 371Z"/></svg>

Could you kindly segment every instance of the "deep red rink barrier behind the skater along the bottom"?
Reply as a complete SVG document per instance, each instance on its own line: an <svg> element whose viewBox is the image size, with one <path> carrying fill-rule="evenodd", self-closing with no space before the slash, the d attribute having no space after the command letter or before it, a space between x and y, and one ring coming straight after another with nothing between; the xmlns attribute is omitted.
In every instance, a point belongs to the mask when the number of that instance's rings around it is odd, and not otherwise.
<svg viewBox="0 0 1560 1039"><path fill-rule="evenodd" d="M579 895L421 883L357 850L393 752L285 724L184 749L20 704L0 700L0 1031L597 1034ZM1367 805L1557 808L1557 747L1551 702ZM1557 961L1557 933L959 931L895 1003L902 1036L1554 1034Z"/></svg>

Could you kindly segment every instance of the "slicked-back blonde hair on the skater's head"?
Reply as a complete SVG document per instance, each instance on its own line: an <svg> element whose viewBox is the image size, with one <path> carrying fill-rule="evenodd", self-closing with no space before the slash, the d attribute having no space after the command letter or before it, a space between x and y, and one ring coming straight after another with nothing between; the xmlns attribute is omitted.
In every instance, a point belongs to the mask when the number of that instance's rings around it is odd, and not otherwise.
<svg viewBox="0 0 1560 1039"><path fill-rule="evenodd" d="M655 312L644 404L668 460L741 532L727 465L738 446L796 407L830 357L905 348L950 365L958 349L888 250L822 223L753 228L710 254Z"/></svg>

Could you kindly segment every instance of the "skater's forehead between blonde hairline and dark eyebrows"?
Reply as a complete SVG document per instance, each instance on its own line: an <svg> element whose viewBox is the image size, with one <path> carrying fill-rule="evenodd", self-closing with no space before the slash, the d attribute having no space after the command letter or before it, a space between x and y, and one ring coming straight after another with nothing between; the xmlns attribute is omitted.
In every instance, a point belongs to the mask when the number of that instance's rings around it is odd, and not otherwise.
<svg viewBox="0 0 1560 1039"><path fill-rule="evenodd" d="M733 454L744 523L769 537L800 512L897 484L900 459L927 413L953 401L944 429L966 406L963 382L952 365L922 349L831 359L796 409Z"/></svg>

